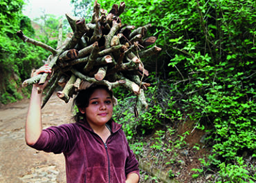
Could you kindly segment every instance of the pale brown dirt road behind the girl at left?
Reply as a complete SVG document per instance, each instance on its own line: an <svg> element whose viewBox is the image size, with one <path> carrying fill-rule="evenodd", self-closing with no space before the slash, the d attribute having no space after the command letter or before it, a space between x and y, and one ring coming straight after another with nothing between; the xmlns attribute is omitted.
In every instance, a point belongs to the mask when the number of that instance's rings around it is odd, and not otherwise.
<svg viewBox="0 0 256 183"><path fill-rule="evenodd" d="M36 151L25 143L28 103L24 99L0 108L0 183L66 182L62 154ZM71 104L53 95L42 110L44 128L71 122Z"/></svg>

